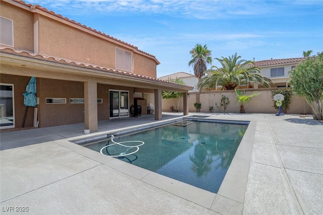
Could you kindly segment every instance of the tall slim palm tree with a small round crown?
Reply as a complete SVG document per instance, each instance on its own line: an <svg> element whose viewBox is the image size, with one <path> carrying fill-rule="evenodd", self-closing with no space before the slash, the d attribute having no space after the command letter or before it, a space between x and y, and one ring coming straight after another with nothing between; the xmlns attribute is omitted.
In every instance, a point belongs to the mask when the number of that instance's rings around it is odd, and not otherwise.
<svg viewBox="0 0 323 215"><path fill-rule="evenodd" d="M193 65L194 75L201 79L205 74L206 65L212 63L211 51L207 49L207 46L196 44L192 50L190 50L192 60L188 62L188 66Z"/></svg>

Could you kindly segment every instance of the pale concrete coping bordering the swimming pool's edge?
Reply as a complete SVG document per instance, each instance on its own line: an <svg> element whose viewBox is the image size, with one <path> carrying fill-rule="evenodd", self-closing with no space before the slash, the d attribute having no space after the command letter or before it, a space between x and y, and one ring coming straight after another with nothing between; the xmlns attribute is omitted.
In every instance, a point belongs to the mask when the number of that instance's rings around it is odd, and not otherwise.
<svg viewBox="0 0 323 215"><path fill-rule="evenodd" d="M244 196L247 186L247 179L251 160L251 152L253 147L253 139L256 127L255 121L243 121L249 122L248 128L245 131L245 134L239 144L239 147L232 160L232 163L217 194L171 179L163 175L159 175L152 171L145 170L140 167L125 163L122 160L106 156L104 154L101 154L99 152L93 151L91 149L88 149L86 147L72 142L78 139L93 138L96 136L122 132L125 130L137 131L141 130L142 128L148 129L156 125L161 126L169 124L181 120L183 118L185 117L178 117L170 120L165 120L162 123L153 122L122 129L97 132L94 134L87 134L78 137L57 140L55 142L78 154L95 160L101 165L117 170L123 174L133 177L134 179L140 180L151 186L172 193L176 196L194 202L213 211L220 212L222 208L230 208L231 211L241 213L244 203Z"/></svg>

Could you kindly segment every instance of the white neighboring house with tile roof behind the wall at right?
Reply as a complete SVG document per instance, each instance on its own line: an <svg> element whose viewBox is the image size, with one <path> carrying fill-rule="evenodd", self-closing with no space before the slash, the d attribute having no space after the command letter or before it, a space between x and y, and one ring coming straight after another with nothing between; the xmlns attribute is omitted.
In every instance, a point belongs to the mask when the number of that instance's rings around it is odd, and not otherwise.
<svg viewBox="0 0 323 215"><path fill-rule="evenodd" d="M306 58L289 58L289 59L271 59L264 61L255 61L255 66L260 67L260 74L272 79L274 85L272 87L287 87L289 81L288 72L296 67ZM258 88L254 84L254 88ZM259 88L262 86L259 85Z"/></svg>

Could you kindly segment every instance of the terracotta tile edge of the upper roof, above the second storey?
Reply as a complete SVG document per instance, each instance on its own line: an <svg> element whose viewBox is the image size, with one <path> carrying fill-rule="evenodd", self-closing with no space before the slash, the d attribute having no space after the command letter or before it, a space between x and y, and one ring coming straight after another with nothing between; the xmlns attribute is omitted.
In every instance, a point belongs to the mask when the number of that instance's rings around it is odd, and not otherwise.
<svg viewBox="0 0 323 215"><path fill-rule="evenodd" d="M63 17L63 16L62 16L62 15L60 15L60 14L56 14L56 13L55 13L55 12L53 12L53 11L48 11L46 8L42 8L42 7L41 7L41 6L39 6L39 5L26 4L24 1L21 1L21 0L12 0L12 1L13 1L13 2L16 2L16 3L19 3L19 4L21 4L21 5L24 5L24 6L28 7L28 8L30 8L30 9L38 9L38 10L41 10L41 11L43 11L43 12L47 13L47 14L50 14L50 15L52 15L52 16L56 16L56 17L58 17L58 18L60 18L60 19L63 19L63 20L65 20L65 21L68 21L68 22L73 23L73 24L75 24L75 25L81 26L81 27L83 27L83 28L85 28L85 29L88 29L88 30L90 30L90 31L93 31L93 32L95 32L95 33L97 33L97 34L100 34L100 35L103 35L103 36L105 36L105 37L107 37L107 38L110 38L110 39L113 39L113 40L115 40L115 41L121 42L121 43L123 43L123 44L125 44L125 45L127 45L127 46L130 46L130 47L132 47L132 48L134 48L134 49L138 50L138 51L139 51L139 52L141 52L141 53L144 53L145 55L148 55L148 56L150 56L150 57L152 57L152 58L155 58L155 56L154 56L154 55L151 55L150 53L147 53L147 52L145 52L145 51L142 51L142 50L138 49L138 47L137 47L137 46L131 45L131 44L129 44L129 43L127 43L127 42L124 42L124 41L122 41L122 40L120 40L120 39L117 39L117 38L115 38L115 37L112 37L112 36L110 36L110 35L107 35L107 34L105 34L105 33L102 33L102 32L97 31L97 30L95 30L95 29L92 29L91 27L87 27L86 25L82 25L81 23L79 23L79 22L75 22L74 20L70 20L69 18L67 18L67 17ZM160 64L156 58L155 58L155 60L157 61L157 63L158 63L158 64Z"/></svg>

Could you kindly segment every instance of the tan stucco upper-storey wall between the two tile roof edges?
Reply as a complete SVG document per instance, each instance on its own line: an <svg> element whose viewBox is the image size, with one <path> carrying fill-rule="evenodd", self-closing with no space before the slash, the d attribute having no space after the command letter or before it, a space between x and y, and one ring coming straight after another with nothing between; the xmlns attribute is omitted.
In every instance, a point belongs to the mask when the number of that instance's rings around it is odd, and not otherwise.
<svg viewBox="0 0 323 215"><path fill-rule="evenodd" d="M34 52L34 23L38 21L38 53L42 55L116 69L116 47L119 47L132 53L132 71L127 72L156 77L156 59L134 51L134 47L6 2L1 2L0 8L1 16L13 20L15 50Z"/></svg>

